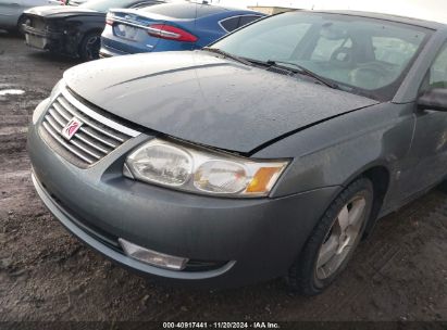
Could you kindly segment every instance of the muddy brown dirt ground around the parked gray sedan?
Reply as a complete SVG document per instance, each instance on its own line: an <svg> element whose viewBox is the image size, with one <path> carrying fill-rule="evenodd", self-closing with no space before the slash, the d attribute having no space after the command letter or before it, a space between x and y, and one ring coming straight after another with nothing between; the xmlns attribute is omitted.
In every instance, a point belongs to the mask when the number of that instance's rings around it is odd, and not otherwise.
<svg viewBox="0 0 447 330"><path fill-rule="evenodd" d="M283 281L229 291L162 287L113 266L45 210L32 187L26 127L76 62L0 34L0 320L447 320L447 195L383 219L323 295Z"/></svg>

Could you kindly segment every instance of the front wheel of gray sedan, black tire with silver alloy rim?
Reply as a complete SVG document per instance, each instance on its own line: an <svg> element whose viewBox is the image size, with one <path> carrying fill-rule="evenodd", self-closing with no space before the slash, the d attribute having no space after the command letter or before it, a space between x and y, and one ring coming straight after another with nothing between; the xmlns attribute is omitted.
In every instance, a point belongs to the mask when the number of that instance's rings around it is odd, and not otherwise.
<svg viewBox="0 0 447 330"><path fill-rule="evenodd" d="M288 271L291 291L316 295L340 275L362 239L373 199L372 182L360 178L332 202Z"/></svg>

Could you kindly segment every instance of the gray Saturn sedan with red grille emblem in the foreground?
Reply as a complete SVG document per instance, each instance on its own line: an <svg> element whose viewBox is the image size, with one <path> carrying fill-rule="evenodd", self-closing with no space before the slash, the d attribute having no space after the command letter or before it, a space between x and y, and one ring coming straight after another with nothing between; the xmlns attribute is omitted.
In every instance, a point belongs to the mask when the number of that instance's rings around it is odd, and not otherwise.
<svg viewBox="0 0 447 330"><path fill-rule="evenodd" d="M193 52L65 72L29 128L75 236L154 278L318 294L447 175L446 25L290 12Z"/></svg>

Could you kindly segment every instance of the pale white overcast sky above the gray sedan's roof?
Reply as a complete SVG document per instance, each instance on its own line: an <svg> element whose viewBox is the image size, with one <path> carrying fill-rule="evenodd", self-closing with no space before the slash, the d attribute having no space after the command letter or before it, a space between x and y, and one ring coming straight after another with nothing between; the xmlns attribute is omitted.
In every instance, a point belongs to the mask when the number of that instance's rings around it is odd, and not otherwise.
<svg viewBox="0 0 447 330"><path fill-rule="evenodd" d="M447 23L447 0L209 0L209 2L239 8L278 5L301 9L365 10Z"/></svg>

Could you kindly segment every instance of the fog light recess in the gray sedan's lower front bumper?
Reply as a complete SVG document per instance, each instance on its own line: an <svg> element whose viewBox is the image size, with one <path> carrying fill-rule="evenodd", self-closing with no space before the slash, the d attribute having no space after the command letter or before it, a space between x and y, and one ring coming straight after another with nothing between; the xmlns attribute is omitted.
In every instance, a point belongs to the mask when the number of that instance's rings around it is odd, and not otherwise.
<svg viewBox="0 0 447 330"><path fill-rule="evenodd" d="M119 242L127 256L152 266L171 270L183 270L189 261L188 258L156 252L123 239L119 239Z"/></svg>

